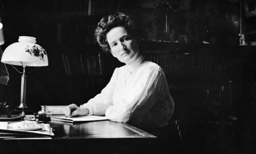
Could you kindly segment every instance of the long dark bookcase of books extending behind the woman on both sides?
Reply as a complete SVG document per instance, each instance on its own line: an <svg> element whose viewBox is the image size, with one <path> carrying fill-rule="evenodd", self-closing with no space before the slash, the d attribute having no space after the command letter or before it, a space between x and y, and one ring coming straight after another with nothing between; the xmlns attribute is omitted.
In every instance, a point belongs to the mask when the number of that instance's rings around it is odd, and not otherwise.
<svg viewBox="0 0 256 154"><path fill-rule="evenodd" d="M232 46L207 47L186 44L184 47L182 43L154 41L144 41L142 43L141 50L144 57L160 65L165 72L170 87L207 89L209 91L207 104L209 104L210 109L218 107L232 108L237 105L250 104L251 98L249 95L251 95L254 86L253 50L255 49L253 47L236 48L234 50L235 48ZM158 46L159 44L162 48ZM147 45L157 47L157 49L151 48L150 50ZM109 80L114 69L123 65L111 54L100 52L89 57L81 54L72 55L76 58L72 58L70 55L65 56L68 57L66 60L75 59L74 61L79 61L79 59L82 59L80 63L77 63L78 65L69 67L71 73L65 71L64 74L71 78L94 76L102 80ZM65 67L65 62L63 62L62 68L68 68ZM72 74L72 70L75 72L77 69L80 74ZM83 69L86 70L84 73Z"/></svg>

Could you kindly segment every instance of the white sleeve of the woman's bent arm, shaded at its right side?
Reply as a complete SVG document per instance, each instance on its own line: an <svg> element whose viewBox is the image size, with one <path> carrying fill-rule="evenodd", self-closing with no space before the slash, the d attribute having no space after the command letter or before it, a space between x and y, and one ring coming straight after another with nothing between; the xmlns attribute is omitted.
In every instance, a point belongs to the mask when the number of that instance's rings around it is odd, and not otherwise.
<svg viewBox="0 0 256 154"><path fill-rule="evenodd" d="M126 85L125 90L122 86L116 87L114 104L106 110L106 117L112 121L129 122L135 126L152 122L161 125L155 121L159 120L158 116L160 120L164 119L163 121L170 118L173 100L170 100L172 97L169 95L164 73L158 65L140 68L131 80L127 80Z"/></svg>

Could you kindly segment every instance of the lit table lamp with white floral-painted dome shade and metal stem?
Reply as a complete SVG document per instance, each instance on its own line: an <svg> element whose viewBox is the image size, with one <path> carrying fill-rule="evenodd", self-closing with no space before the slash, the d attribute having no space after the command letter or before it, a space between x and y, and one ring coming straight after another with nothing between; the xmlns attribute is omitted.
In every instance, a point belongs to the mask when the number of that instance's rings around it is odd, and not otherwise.
<svg viewBox="0 0 256 154"><path fill-rule="evenodd" d="M20 104L16 107L17 110L24 109L26 111L29 108L26 105L27 72L25 71L25 68L38 68L48 65L46 51L35 43L35 39L35 37L30 36L19 36L18 42L12 43L5 49L1 59L1 62L10 64L15 70L17 69L13 65L20 65L23 67L23 72L17 70L19 73L23 74L20 89Z"/></svg>

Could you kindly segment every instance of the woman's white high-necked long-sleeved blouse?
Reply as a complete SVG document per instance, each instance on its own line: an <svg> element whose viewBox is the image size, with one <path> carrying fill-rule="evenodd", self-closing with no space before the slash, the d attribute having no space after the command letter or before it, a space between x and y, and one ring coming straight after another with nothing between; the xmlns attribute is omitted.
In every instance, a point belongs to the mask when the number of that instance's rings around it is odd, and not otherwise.
<svg viewBox="0 0 256 154"><path fill-rule="evenodd" d="M161 67L140 56L134 63L116 68L101 93L80 107L88 108L89 115L153 128L168 124L174 100Z"/></svg>

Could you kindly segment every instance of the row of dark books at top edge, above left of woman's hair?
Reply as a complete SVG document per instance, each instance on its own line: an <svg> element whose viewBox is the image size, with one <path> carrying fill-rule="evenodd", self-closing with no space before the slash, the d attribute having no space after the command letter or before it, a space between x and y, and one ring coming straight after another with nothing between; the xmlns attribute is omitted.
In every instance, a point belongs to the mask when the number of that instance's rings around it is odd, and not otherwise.
<svg viewBox="0 0 256 154"><path fill-rule="evenodd" d="M55 1L54 13L103 17L116 12L118 4L118 0L61 0Z"/></svg>

